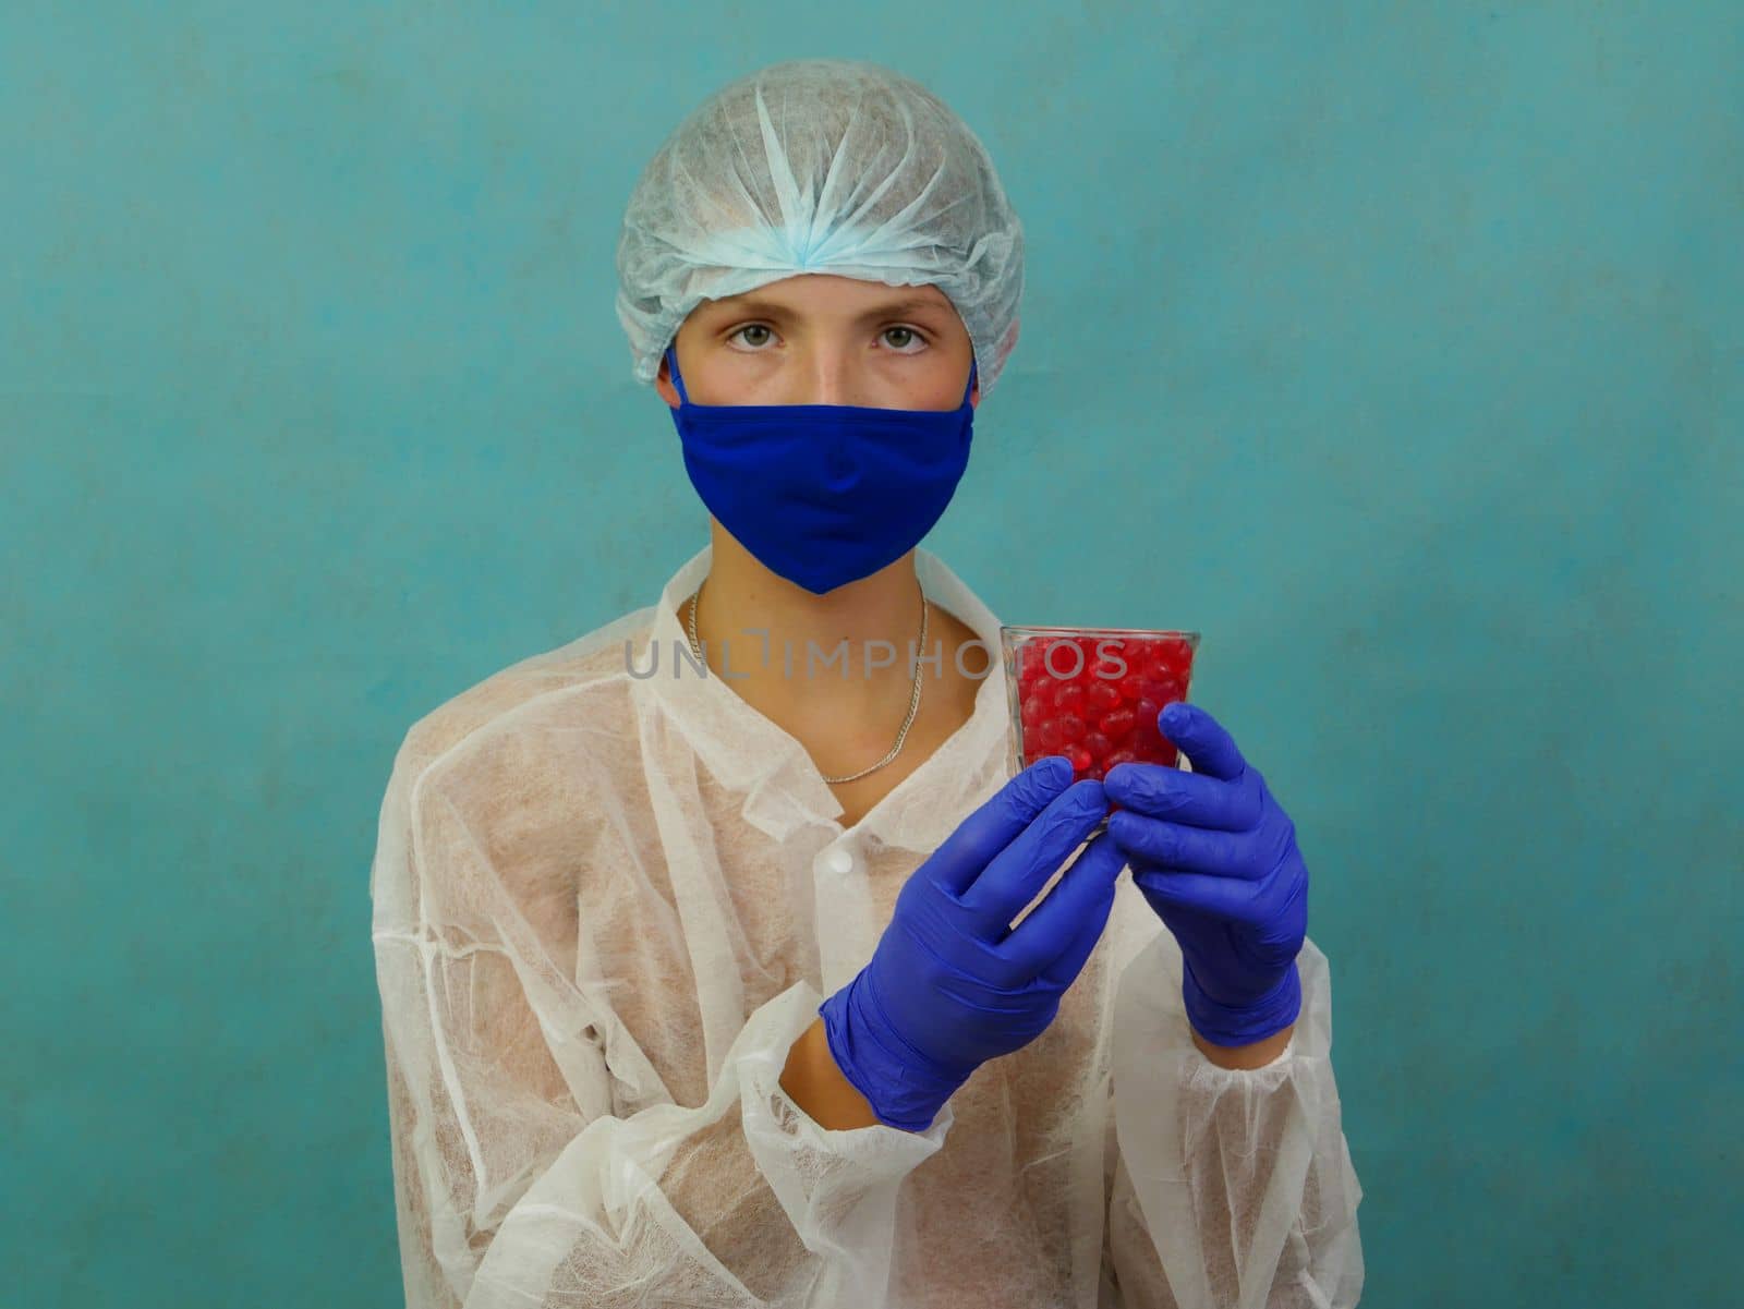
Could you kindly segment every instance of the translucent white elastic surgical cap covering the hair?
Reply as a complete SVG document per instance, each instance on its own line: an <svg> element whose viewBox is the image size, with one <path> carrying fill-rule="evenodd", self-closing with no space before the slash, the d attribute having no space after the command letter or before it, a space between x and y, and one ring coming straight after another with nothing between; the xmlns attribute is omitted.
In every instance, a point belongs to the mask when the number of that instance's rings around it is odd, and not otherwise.
<svg viewBox="0 0 1744 1309"><path fill-rule="evenodd" d="M771 64L666 138L617 241L637 380L654 380L699 302L807 272L937 286L968 328L982 397L1017 343L1024 230L992 159L938 96L888 68Z"/></svg>

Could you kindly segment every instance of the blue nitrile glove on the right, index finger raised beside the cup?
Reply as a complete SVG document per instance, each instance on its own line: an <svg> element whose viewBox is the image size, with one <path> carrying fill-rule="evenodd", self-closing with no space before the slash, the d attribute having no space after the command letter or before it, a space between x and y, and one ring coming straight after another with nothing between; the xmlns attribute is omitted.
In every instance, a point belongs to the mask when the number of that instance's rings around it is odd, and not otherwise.
<svg viewBox="0 0 1744 1309"><path fill-rule="evenodd" d="M1308 866L1296 826L1217 720L1186 701L1156 718L1193 772L1118 763L1107 835L1132 884L1181 945L1181 997L1214 1046L1250 1046L1296 1021Z"/></svg>

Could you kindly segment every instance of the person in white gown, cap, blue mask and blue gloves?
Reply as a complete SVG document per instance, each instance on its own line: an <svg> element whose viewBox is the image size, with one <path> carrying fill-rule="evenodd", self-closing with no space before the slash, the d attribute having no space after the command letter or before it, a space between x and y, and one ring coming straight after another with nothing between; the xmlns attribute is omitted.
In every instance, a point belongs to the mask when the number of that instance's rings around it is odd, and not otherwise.
<svg viewBox="0 0 1744 1309"><path fill-rule="evenodd" d="M724 87L637 183L619 317L710 544L394 756L408 1306L1357 1302L1294 826L1202 706L1181 769L1006 776L999 621L919 544L1022 254L968 125L858 61Z"/></svg>

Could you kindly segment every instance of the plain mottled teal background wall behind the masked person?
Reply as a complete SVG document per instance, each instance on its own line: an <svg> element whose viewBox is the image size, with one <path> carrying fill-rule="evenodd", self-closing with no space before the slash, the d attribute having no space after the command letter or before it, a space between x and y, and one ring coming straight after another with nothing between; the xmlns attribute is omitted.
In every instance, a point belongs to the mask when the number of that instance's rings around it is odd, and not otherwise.
<svg viewBox="0 0 1744 1309"><path fill-rule="evenodd" d="M399 1302L389 763L703 544L617 220L797 56L937 89L1027 225L928 546L1205 633L1364 1304L1735 1302L1744 9L830 10L0 9L0 1302Z"/></svg>

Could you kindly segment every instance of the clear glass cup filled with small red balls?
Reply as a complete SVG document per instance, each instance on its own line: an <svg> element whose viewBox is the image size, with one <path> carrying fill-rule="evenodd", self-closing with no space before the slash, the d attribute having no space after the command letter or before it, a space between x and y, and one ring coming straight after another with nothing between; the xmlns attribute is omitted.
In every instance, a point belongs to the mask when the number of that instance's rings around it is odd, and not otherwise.
<svg viewBox="0 0 1744 1309"><path fill-rule="evenodd" d="M1116 763L1179 767L1156 715L1188 697L1198 641L1196 631L999 627L1010 774L1048 755L1073 762L1074 783Z"/></svg>

